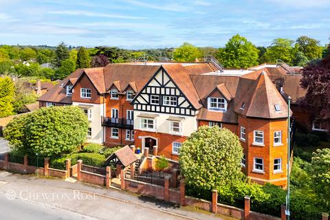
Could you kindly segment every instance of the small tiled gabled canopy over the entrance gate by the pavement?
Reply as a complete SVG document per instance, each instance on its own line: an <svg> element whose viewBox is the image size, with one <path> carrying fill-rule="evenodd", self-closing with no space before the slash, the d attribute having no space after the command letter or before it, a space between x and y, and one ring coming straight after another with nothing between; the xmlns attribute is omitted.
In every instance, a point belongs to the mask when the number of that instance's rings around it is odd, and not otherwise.
<svg viewBox="0 0 330 220"><path fill-rule="evenodd" d="M110 162L115 162L115 164L121 164L126 167L133 164L136 160L137 157L135 156L135 153L133 153L132 149L126 145L108 157L105 164L109 165Z"/></svg>

